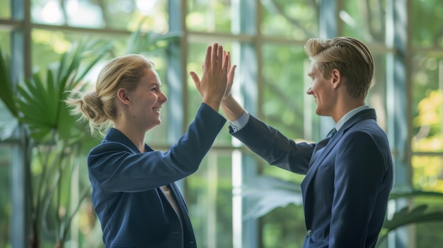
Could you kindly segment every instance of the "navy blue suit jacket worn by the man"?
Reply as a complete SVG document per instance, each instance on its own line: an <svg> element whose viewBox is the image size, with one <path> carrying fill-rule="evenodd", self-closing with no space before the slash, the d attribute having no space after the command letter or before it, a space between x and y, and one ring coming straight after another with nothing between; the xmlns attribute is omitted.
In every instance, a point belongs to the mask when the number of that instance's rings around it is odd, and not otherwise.
<svg viewBox="0 0 443 248"><path fill-rule="evenodd" d="M393 184L393 162L373 109L359 112L333 138L319 143L295 143L253 116L232 134L270 165L306 175L301 183L304 248L375 247Z"/></svg>

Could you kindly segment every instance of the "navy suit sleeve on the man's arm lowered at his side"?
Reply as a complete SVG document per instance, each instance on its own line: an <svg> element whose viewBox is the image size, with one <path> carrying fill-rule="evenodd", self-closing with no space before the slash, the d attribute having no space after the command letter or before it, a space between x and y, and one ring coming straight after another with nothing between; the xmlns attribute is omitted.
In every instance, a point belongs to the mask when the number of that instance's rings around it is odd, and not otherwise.
<svg viewBox="0 0 443 248"><path fill-rule="evenodd" d="M387 141L377 140L364 131L353 131L338 146L329 247L364 247L368 235L378 235L375 227L382 223L371 223L372 215L384 215L385 192L391 187L389 149L382 150L381 143ZM386 204L376 206L383 198L381 194L386 194Z"/></svg>

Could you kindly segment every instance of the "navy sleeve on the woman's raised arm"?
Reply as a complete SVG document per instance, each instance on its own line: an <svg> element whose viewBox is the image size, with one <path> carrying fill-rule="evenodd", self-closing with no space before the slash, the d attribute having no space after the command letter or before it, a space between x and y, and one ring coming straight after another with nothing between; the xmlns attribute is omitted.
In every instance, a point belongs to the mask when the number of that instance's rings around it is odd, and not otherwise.
<svg viewBox="0 0 443 248"><path fill-rule="evenodd" d="M134 153L120 142L101 143L88 155L91 181L108 191L136 192L176 182L195 172L226 119L202 104L187 133L166 152Z"/></svg>

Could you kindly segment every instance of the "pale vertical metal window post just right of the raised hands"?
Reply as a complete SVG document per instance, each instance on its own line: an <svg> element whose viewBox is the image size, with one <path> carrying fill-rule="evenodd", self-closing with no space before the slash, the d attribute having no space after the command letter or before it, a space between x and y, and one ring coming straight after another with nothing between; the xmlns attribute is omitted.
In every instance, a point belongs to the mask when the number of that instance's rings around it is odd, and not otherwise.
<svg viewBox="0 0 443 248"><path fill-rule="evenodd" d="M245 109L257 116L260 111L260 76L258 68L260 59L260 1L236 0L231 1L232 26L235 37L246 39L236 40L232 45L232 53L236 54L233 64L241 64L241 70L236 71L233 94L243 102ZM255 62L255 63L254 63ZM236 141L233 140L233 146ZM258 221L243 220L243 215L251 207L251 203L243 199L241 189L243 184L257 175L257 161L251 154L232 153L232 184L233 184L233 245L234 248L260 247L258 240Z"/></svg>

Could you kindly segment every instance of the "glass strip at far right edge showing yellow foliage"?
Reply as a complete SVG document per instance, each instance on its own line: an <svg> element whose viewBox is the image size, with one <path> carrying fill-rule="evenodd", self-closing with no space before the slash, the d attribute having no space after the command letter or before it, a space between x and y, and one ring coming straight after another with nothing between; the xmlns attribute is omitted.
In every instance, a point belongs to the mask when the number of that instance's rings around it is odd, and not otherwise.
<svg viewBox="0 0 443 248"><path fill-rule="evenodd" d="M411 149L414 189L443 193L443 6L437 1L411 1ZM421 197L415 206L428 211L442 209L442 200ZM432 247L443 241L442 225L425 223L416 227L417 247Z"/></svg>

